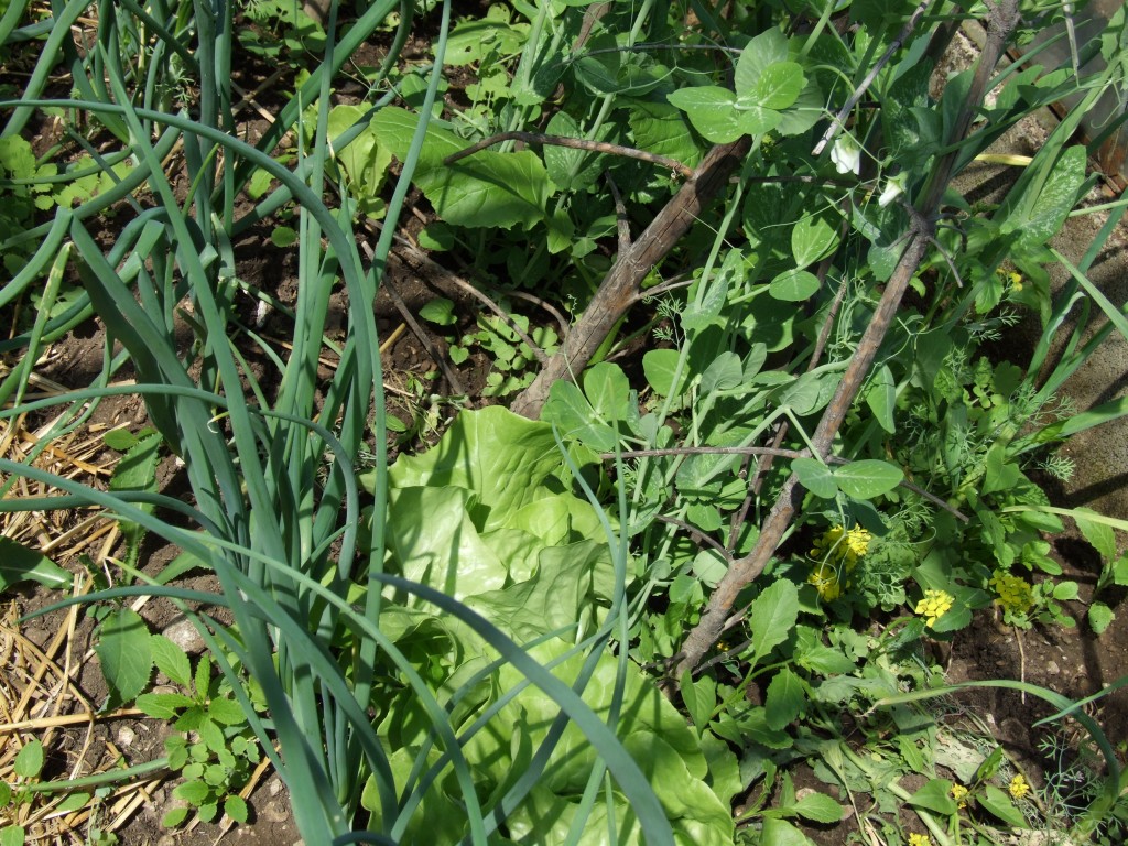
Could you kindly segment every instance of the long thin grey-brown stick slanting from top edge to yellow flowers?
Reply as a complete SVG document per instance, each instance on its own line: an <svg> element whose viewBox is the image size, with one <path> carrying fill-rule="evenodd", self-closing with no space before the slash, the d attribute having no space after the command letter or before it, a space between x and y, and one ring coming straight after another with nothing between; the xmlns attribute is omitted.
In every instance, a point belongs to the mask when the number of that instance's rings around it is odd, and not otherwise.
<svg viewBox="0 0 1128 846"><path fill-rule="evenodd" d="M999 0L988 8L990 11L987 42L980 54L979 63L976 65L967 102L953 127L950 139L953 143L967 134L975 111L987 91L988 80L1003 54L1006 39L1019 19L1017 0ZM857 351L851 359L846 372L843 374L843 380L811 439L812 447L820 457L827 456L830 451L835 434L846 418L846 413L865 381L870 365L878 353L878 347L892 325L901 297L924 259L935 228L933 218L940 209L941 199L951 179L958 155L959 149L957 148L938 162L920 203L920 211L909 210L910 223L905 250L901 253L892 276L885 284L884 293L882 293L870 325L862 335ZM681 651L670 659L670 667L676 667L677 678L681 678L682 675L697 667L708 649L716 642L725 622L732 614L737 596L764 572L764 567L767 566L783 539L784 532L791 526L801 500L802 488L799 485L799 478L792 474L784 483L772 511L764 521L756 546L748 555L732 563L710 597L708 606L705 614L702 615L700 622L686 637Z"/></svg>

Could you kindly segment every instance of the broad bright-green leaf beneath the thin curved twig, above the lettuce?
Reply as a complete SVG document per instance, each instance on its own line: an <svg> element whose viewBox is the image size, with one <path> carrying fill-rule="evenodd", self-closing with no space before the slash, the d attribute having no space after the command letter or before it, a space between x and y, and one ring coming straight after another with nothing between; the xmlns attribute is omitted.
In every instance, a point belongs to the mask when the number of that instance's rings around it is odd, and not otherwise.
<svg viewBox="0 0 1128 846"><path fill-rule="evenodd" d="M372 118L380 143L403 160L418 116L388 106ZM443 159L464 149L455 133L430 125L414 182L449 223L465 227L530 227L549 222L550 187L544 164L531 150L483 150L451 165Z"/></svg>

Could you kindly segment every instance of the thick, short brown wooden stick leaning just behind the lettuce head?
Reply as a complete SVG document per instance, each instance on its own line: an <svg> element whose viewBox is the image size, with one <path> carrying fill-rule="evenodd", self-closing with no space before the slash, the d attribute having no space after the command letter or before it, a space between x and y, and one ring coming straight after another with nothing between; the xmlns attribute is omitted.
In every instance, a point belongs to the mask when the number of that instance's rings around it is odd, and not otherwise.
<svg viewBox="0 0 1128 846"><path fill-rule="evenodd" d="M751 139L743 136L729 144L717 144L706 153L694 176L686 180L673 199L662 206L654 220L619 254L583 316L572 327L567 338L546 364L532 385L521 391L512 409L537 418L548 398L548 390L558 379L571 379L583 370L603 343L611 327L637 299L642 281L681 239L700 212L721 193L729 175L748 152Z"/></svg>

